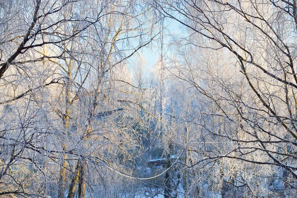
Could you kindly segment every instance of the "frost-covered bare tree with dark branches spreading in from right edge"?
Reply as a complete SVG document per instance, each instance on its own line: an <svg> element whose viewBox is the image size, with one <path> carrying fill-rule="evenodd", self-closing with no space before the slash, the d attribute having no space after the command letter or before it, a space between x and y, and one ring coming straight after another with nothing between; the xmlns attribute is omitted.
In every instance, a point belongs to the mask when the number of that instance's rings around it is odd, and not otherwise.
<svg viewBox="0 0 297 198"><path fill-rule="evenodd" d="M246 188L245 196L274 194L271 186L276 180L284 189L296 189L296 3L153 3L163 17L177 21L188 32L182 41L188 54L175 59L171 69L204 99L198 124L203 127L200 141L205 146L196 150L194 165L217 162L218 170L223 164L246 164L245 170L262 179L256 181L236 170L229 180L230 166L212 174L217 181ZM205 101L214 106L207 109ZM219 146L220 142L229 146Z"/></svg>

